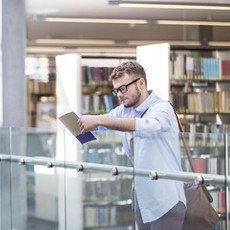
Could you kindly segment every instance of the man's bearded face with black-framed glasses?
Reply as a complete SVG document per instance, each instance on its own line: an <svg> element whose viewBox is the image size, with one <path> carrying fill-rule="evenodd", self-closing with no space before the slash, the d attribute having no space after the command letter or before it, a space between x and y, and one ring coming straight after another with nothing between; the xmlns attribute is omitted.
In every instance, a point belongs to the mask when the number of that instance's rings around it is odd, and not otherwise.
<svg viewBox="0 0 230 230"><path fill-rule="evenodd" d="M138 85L139 80L137 77L124 74L122 77L112 81L117 97L125 107L135 108L140 104L141 90Z"/></svg>

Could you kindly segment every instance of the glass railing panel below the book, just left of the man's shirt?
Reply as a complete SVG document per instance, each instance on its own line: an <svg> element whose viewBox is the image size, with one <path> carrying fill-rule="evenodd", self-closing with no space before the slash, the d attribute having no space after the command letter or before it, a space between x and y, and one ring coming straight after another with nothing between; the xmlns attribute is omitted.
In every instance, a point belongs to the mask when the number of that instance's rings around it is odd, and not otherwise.
<svg viewBox="0 0 230 230"><path fill-rule="evenodd" d="M122 133L104 132L97 140L82 145L81 159L98 166L130 166L131 161L125 154ZM122 134L123 135L123 134ZM83 229L134 229L131 191L131 175L112 171L83 170L82 207Z"/></svg>

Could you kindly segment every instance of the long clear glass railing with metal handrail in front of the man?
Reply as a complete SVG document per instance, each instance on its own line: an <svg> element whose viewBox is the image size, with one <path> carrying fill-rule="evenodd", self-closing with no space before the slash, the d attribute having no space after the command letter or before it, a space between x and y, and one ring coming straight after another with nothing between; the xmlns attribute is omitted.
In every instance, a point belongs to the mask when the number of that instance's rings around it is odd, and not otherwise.
<svg viewBox="0 0 230 230"><path fill-rule="evenodd" d="M227 134L96 137L82 145L67 130L0 129L0 229L138 229L185 202L188 182L213 198L209 229L229 229Z"/></svg>

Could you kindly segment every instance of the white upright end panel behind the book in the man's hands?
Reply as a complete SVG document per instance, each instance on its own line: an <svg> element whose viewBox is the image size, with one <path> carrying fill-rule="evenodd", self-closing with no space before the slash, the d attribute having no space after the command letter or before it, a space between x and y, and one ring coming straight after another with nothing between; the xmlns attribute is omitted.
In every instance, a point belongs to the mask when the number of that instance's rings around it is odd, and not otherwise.
<svg viewBox="0 0 230 230"><path fill-rule="evenodd" d="M81 115L81 57L67 54L56 57L57 71L57 117L74 111ZM60 128L64 128L58 122ZM68 131L65 132L65 145L57 140L57 158L66 161L80 161L81 145ZM65 151L63 151L65 149ZM66 179L64 180L64 177ZM65 189L63 189L65 188ZM66 169L58 173L59 230L83 229L81 173Z"/></svg>

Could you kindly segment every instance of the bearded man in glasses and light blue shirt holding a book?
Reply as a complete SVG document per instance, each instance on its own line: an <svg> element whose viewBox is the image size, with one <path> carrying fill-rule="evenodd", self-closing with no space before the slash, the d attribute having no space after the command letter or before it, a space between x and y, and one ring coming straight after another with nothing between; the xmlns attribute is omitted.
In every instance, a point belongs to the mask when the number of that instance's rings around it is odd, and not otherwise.
<svg viewBox="0 0 230 230"><path fill-rule="evenodd" d="M154 92L147 91L143 67L134 61L124 62L113 70L110 80L113 95L121 105L106 115L81 116L78 121L81 132L101 127L125 131L123 145L130 158L134 151L134 167L181 171L173 108ZM130 131L135 131L134 138ZM131 141L134 143L130 144ZM182 182L135 176L134 191L139 230L182 229L186 210Z"/></svg>

